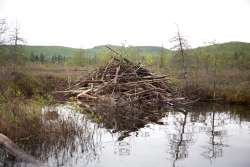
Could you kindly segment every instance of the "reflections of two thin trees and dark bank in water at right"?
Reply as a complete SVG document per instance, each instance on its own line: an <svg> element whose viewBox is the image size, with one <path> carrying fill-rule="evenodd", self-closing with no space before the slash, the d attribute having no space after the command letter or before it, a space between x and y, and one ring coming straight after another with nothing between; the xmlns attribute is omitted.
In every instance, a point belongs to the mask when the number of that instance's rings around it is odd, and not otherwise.
<svg viewBox="0 0 250 167"><path fill-rule="evenodd" d="M242 128L243 122L247 121L249 125L250 117L247 107L234 106L231 111L230 106L215 104L196 106L188 111L175 111L163 120L168 137L168 159L172 161L172 166L176 166L179 160L189 158L190 152L192 153L190 147L203 134L207 136L207 143L201 146L203 151L200 155L209 159L210 163L223 157L223 149L229 147L225 141L230 133L228 126Z"/></svg>

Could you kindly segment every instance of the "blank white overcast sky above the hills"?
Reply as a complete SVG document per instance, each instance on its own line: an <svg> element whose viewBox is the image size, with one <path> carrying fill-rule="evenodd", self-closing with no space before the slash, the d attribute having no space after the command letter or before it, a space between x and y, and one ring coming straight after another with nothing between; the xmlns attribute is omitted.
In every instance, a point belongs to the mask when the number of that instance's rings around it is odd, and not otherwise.
<svg viewBox="0 0 250 167"><path fill-rule="evenodd" d="M192 47L250 42L250 0L0 0L31 45L171 47L179 24Z"/></svg>

